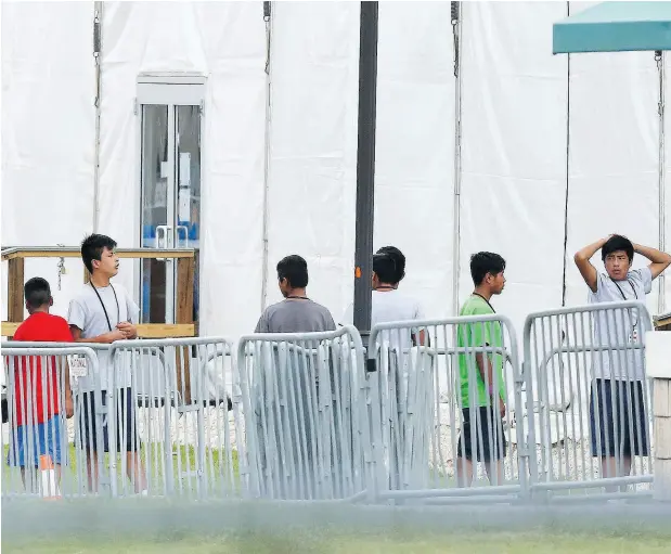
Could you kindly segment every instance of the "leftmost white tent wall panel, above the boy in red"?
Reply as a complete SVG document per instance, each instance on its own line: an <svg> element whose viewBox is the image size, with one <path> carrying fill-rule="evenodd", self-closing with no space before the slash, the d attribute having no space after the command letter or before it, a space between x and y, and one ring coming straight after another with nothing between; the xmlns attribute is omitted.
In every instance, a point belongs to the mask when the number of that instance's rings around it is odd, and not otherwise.
<svg viewBox="0 0 671 554"><path fill-rule="evenodd" d="M93 2L2 4L3 246L76 245L93 222L95 109ZM57 259L29 260L25 279L47 279L65 314L81 263L57 289ZM2 318L7 318L7 262Z"/></svg>

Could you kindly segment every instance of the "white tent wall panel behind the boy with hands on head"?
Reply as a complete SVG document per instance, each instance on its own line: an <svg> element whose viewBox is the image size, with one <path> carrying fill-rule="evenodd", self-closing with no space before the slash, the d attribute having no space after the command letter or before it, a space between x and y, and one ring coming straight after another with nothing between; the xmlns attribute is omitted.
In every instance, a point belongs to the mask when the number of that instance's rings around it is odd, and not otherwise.
<svg viewBox="0 0 671 554"><path fill-rule="evenodd" d="M571 13L588 8L571 2ZM575 54L570 70L567 304L588 288L572 261L610 233L658 245L657 69L653 52ZM594 257L603 270L601 253ZM635 256L634 267L647 263ZM656 306L657 289L648 295Z"/></svg>

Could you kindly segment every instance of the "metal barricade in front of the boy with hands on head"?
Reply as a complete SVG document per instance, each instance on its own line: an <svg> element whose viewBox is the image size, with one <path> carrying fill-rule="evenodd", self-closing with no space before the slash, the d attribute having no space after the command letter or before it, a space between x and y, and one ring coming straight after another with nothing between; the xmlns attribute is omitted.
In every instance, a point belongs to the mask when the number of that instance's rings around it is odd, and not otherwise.
<svg viewBox="0 0 671 554"><path fill-rule="evenodd" d="M527 318L524 372L534 498L562 502L650 494L644 337L651 328L645 305L637 301Z"/></svg>

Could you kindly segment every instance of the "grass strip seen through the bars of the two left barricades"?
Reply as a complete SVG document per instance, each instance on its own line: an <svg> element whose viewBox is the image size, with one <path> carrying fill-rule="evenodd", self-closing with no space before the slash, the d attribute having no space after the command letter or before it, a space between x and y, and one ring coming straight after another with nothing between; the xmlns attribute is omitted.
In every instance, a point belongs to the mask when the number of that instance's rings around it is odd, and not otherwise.
<svg viewBox="0 0 671 554"><path fill-rule="evenodd" d="M9 446L5 446L4 464L7 464L8 452ZM140 449L140 459L147 469L147 481L152 494L163 493L166 472L169 469L170 461L172 463L171 474L176 492L179 493L181 490L183 493L189 493L190 491L194 492L196 490L196 452L193 446L173 445L171 455L166 456L163 443L151 442L147 445L143 442ZM231 462L232 468L229 456L224 451L210 448L205 449L205 467L203 471L211 493L221 490L222 484L228 488L229 493L235 493L237 491L240 463L236 450L231 451ZM109 466L109 454L105 454L103 464L103 467ZM18 468L4 465L2 472L2 492L23 490ZM116 476L117 487L120 488L124 482L127 482L130 490L130 481L128 481L128 478L122 472L121 455L117 455ZM181 489L180 480L182 484ZM87 482L83 455L80 455L80 460L78 461L75 446L72 443L69 445L68 464L63 472L62 482L62 490L64 493L68 491L76 492L78 482Z"/></svg>

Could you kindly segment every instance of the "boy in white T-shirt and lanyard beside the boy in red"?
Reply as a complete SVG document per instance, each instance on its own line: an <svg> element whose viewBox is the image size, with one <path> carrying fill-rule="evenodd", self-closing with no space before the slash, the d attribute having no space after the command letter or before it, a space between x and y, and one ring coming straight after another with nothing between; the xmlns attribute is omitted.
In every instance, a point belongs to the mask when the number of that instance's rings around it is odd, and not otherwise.
<svg viewBox="0 0 671 554"><path fill-rule="evenodd" d="M109 280L118 273L119 260L114 252L116 242L108 236L92 234L81 243L81 259L91 274L91 280L72 299L68 323L77 343L112 344L115 340L137 338L138 332L133 321L138 321L139 308L120 285L111 284ZM99 356L100 388L102 402L108 386L114 364L105 352ZM144 466L139 455L139 437L134 412L134 398L127 372L118 375L118 404L120 413L115 421L117 426L117 452L125 451L128 461L128 478L134 481L136 492L146 493ZM98 476L98 437L95 428L95 385L90 376L79 379L79 389L83 392L83 410L79 421L80 433L86 448L89 489L99 482ZM108 416L116 413L112 411ZM108 452L108 433L103 425L102 443ZM125 441L121 441L124 435ZM93 472L93 473L92 473Z"/></svg>

